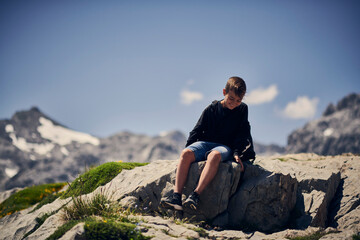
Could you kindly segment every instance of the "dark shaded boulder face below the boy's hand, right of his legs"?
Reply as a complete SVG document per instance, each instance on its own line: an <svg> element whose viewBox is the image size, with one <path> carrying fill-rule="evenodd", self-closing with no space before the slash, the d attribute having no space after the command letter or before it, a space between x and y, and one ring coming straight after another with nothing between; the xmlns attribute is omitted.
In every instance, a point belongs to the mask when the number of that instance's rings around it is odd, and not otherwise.
<svg viewBox="0 0 360 240"><path fill-rule="evenodd" d="M264 232L282 229L295 206L297 187L289 174L247 165L241 186L230 200L229 224Z"/></svg>

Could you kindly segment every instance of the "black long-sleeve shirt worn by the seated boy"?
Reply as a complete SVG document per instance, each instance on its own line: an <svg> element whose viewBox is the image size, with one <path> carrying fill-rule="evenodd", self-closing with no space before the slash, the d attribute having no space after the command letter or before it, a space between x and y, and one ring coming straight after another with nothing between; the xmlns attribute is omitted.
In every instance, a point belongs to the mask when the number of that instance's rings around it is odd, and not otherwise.
<svg viewBox="0 0 360 240"><path fill-rule="evenodd" d="M220 143L230 147L241 160L254 159L247 105L241 103L230 110L220 101L213 101L202 112L186 146L197 141Z"/></svg>

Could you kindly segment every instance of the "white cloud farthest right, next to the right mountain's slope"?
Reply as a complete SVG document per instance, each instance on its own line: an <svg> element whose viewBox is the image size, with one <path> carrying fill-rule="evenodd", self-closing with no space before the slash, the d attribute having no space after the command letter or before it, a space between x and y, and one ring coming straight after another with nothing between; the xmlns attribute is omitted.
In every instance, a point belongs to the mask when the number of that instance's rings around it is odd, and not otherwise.
<svg viewBox="0 0 360 240"><path fill-rule="evenodd" d="M289 102L286 105L283 114L293 119L312 118L315 116L318 103L318 98L310 99L307 96L300 96L295 102Z"/></svg>

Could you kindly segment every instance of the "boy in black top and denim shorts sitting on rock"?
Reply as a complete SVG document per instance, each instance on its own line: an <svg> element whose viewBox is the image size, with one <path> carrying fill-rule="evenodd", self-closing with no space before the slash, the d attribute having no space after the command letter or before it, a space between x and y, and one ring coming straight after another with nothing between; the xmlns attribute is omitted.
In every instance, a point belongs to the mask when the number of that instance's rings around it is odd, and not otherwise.
<svg viewBox="0 0 360 240"><path fill-rule="evenodd" d="M184 207L196 210L199 196L215 177L220 162L235 159L244 171L242 161L255 158L248 107L242 103L245 92L244 80L231 77L223 89L224 99L205 108L180 155L174 193L160 202L162 207L183 209L181 195L191 163L206 160L196 189L184 202Z"/></svg>

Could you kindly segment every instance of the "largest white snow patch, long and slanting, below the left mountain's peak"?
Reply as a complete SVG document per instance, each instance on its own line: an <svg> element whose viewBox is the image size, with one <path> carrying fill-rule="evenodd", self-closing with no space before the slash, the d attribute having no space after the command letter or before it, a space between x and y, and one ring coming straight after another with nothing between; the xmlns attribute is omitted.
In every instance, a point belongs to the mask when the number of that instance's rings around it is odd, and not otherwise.
<svg viewBox="0 0 360 240"><path fill-rule="evenodd" d="M59 145L67 145L71 142L90 143L95 146L100 144L100 140L96 137L86 133L76 132L62 126L56 126L52 121L44 117L40 117L39 122L41 125L37 130L41 136Z"/></svg>

